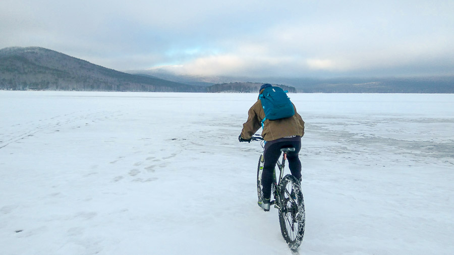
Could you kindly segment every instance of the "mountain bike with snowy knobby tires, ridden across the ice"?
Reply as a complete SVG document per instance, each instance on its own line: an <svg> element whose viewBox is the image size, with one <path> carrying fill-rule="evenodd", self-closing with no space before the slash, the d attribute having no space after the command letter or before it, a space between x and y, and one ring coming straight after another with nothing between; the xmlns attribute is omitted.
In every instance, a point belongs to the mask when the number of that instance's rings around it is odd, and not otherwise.
<svg viewBox="0 0 454 255"><path fill-rule="evenodd" d="M253 141L261 141L263 152L265 150L265 141L258 135L252 137ZM270 205L279 213L280 232L282 237L289 244L292 250L296 250L303 240L304 228L306 223L306 213L304 210L303 193L301 192L301 183L291 174L283 176L287 153L294 152L295 148L283 148L282 163L277 160L277 168L279 169L279 178L276 176L276 169L273 171L273 182L271 184L271 194L274 200L270 201ZM257 194L258 199L263 198L262 193L262 171L263 171L263 152L257 166ZM282 177L283 176L283 177Z"/></svg>

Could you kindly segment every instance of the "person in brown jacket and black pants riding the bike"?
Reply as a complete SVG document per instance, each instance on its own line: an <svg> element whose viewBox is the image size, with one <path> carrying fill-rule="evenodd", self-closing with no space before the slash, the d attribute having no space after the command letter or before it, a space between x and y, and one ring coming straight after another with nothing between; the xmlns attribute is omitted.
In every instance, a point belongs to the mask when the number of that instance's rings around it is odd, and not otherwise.
<svg viewBox="0 0 454 255"><path fill-rule="evenodd" d="M260 100L260 94L265 88L272 87L271 84L263 84L259 90L259 98L248 111L248 120L243 124L243 130L238 137L240 142L251 142L252 136L263 127L262 137L265 140L265 151L263 154L264 165L262 172L263 199L258 205L264 210L269 210L271 197L271 184L273 181L273 170L281 154L280 149L294 147L294 152L287 153L289 168L293 176L301 182L301 162L298 153L301 149L301 137L304 136L304 121L297 113L291 117L269 120L265 119L265 112ZM292 103L293 104L293 103ZM264 120L262 126L262 119Z"/></svg>

